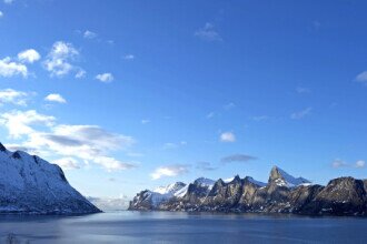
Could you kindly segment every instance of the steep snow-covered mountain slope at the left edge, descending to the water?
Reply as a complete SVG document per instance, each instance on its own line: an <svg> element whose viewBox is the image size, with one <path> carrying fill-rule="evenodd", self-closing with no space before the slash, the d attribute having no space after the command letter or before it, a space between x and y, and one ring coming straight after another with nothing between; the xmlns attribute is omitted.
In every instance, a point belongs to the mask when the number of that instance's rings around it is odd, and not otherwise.
<svg viewBox="0 0 367 244"><path fill-rule="evenodd" d="M0 143L0 213L83 214L100 212L76 191L54 164Z"/></svg>

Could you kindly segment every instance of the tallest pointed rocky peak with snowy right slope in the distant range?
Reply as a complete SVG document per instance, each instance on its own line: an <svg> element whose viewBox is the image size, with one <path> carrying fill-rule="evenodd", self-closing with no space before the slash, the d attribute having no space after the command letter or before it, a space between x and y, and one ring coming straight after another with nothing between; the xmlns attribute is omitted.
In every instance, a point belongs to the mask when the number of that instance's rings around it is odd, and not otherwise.
<svg viewBox="0 0 367 244"><path fill-rule="evenodd" d="M270 171L269 183L276 183L278 186L294 187L311 182L304 177L294 177L278 166L274 166Z"/></svg>

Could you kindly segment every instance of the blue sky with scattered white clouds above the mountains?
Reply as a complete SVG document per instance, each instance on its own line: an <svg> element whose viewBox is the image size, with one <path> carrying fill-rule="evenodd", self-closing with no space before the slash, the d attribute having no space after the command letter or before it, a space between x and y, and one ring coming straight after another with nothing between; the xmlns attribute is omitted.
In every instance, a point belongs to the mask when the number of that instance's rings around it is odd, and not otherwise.
<svg viewBox="0 0 367 244"><path fill-rule="evenodd" d="M366 177L364 1L0 2L0 138L91 196Z"/></svg>

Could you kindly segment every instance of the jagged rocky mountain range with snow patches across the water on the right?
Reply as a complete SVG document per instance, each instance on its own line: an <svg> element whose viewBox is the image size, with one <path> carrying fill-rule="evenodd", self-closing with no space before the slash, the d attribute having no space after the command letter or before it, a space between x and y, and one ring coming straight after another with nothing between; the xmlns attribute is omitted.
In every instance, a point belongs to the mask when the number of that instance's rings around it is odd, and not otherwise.
<svg viewBox="0 0 367 244"><path fill-rule="evenodd" d="M145 190L129 210L367 216L367 180L338 177L323 186L274 166L268 183L237 175Z"/></svg>

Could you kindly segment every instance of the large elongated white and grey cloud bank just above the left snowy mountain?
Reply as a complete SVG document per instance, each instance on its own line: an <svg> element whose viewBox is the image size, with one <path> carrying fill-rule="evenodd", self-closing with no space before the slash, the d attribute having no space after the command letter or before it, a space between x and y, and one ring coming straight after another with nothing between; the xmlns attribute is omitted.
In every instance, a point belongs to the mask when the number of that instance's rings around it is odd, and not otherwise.
<svg viewBox="0 0 367 244"><path fill-rule="evenodd" d="M108 171L137 166L137 163L121 162L109 155L112 151L128 150L135 140L110 133L98 125L56 124L53 116L39 114L34 110L3 113L0 125L8 129L10 138L22 139L13 148L41 156L72 157L85 163L92 162ZM61 163L66 164L66 161ZM71 165L70 162L68 165Z"/></svg>

